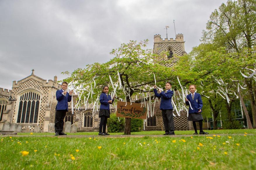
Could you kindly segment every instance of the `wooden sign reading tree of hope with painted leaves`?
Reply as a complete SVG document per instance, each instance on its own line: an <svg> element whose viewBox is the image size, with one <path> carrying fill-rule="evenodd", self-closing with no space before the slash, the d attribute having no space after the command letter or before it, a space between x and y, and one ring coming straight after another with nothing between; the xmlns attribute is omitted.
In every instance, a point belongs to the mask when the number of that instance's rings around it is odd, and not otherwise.
<svg viewBox="0 0 256 170"><path fill-rule="evenodd" d="M127 102L117 102L117 117L125 117L125 118L137 118L137 119L146 119L147 112L146 107L141 107L139 103L131 103Z"/></svg>

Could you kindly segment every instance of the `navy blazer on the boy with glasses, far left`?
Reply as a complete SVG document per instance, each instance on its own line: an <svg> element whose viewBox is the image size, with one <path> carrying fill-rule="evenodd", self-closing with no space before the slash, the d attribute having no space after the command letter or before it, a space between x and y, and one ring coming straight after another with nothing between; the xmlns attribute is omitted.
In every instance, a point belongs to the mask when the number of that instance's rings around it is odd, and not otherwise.
<svg viewBox="0 0 256 170"><path fill-rule="evenodd" d="M68 102L71 102L72 95L67 92L66 96L64 96L62 93L62 89L56 91L56 99L58 100L56 110L68 111Z"/></svg>

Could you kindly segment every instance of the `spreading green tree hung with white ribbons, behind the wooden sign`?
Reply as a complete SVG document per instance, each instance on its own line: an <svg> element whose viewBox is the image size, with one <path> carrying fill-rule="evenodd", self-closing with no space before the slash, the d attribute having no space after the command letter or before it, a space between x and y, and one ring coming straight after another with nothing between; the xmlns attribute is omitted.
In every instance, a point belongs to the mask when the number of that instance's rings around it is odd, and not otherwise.
<svg viewBox="0 0 256 170"><path fill-rule="evenodd" d="M152 91L152 87L155 84L153 74L155 74L157 82L162 86L165 81L175 77L171 68L154 63L155 57L158 56L153 54L151 49L144 49L147 43L148 40L139 43L136 41L130 41L127 44L123 43L121 47L110 52L115 56L110 61L102 64L87 65L87 68L84 69L79 68L72 72L65 81L74 82L75 86L82 85L84 87L83 96L86 97L89 94L89 89L92 89L95 93L89 98L89 101L92 102L101 93L102 86L108 85L110 91L114 91L109 78L111 76L114 84L118 82L117 96L130 102L136 94ZM69 72L64 73L69 74ZM137 100L135 102L140 101ZM124 134L131 134L131 118L125 118Z"/></svg>

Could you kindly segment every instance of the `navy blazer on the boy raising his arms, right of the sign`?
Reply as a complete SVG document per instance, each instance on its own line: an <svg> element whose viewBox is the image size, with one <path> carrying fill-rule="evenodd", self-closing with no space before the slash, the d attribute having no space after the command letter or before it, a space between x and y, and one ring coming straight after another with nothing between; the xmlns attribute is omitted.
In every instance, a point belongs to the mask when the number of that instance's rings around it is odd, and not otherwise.
<svg viewBox="0 0 256 170"><path fill-rule="evenodd" d="M154 93L156 95L156 97L161 97L161 103L160 103L160 110L167 110L167 109L172 109L172 95L173 95L173 91L168 90L166 93L165 92L161 92L161 93L157 93L156 88L154 88Z"/></svg>

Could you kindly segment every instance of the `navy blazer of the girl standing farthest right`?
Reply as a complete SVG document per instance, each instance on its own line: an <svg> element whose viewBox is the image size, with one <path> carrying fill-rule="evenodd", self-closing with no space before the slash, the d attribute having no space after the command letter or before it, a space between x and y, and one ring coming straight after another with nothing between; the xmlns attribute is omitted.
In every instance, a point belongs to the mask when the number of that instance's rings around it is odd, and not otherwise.
<svg viewBox="0 0 256 170"><path fill-rule="evenodd" d="M199 93L194 93L194 100L192 100L191 94L187 95L187 99L191 103L191 107L193 110L189 107L188 113L198 113L198 110L201 109L202 112L202 107L203 107L203 101L201 99L201 95ZM189 103L186 102L186 105L189 106Z"/></svg>

